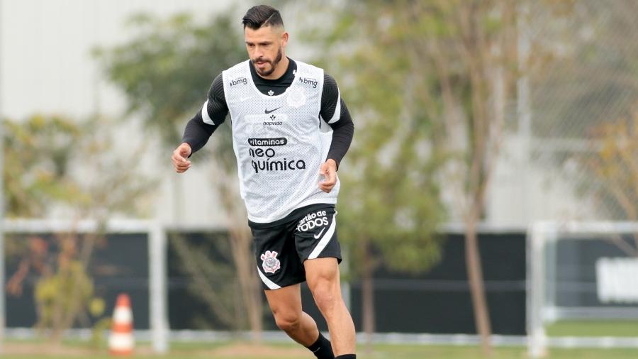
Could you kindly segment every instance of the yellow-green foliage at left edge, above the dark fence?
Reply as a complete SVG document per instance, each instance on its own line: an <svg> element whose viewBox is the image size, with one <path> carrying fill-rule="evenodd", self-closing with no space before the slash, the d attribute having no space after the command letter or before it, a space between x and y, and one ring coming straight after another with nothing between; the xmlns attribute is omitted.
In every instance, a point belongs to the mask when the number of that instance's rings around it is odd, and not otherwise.
<svg viewBox="0 0 638 359"><path fill-rule="evenodd" d="M7 216L43 218L55 206L84 217L142 215L152 182L129 159L112 154L112 125L99 117L5 120Z"/></svg>

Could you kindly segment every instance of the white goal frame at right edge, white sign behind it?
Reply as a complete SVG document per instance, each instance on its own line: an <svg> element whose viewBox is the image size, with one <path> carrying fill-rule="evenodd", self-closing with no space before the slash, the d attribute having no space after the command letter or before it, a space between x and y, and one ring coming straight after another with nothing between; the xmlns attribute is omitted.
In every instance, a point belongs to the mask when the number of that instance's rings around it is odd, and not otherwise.
<svg viewBox="0 0 638 359"><path fill-rule="evenodd" d="M634 240L622 238L636 236L637 233L638 222L538 222L530 226L527 232L527 346L530 357L546 355L548 347L638 348L638 338L548 337L545 331L546 324L561 319L638 320L638 297L632 297L636 293L635 287L638 287L638 272L632 273L638 269L638 257L635 252L632 256L627 250L637 248ZM572 265L565 268L562 262L563 257L570 253L566 249L568 241L572 241L572 249L573 243L582 245L585 243L582 241L590 241L586 243L588 245L593 243L591 241L610 243L624 255L615 255L614 258L601 256L594 260L596 253L591 253L589 248L576 253L576 257L587 257L586 260L578 259L585 261L586 267ZM558 250L559 243L563 248L561 252ZM607 251L610 252L613 251ZM563 257L559 258L561 254ZM564 293L569 291L577 294L570 293L573 294L571 301L561 300L559 291L563 291L562 297L568 297ZM588 296L586 300L573 300L583 293ZM585 304L579 305L579 302Z"/></svg>

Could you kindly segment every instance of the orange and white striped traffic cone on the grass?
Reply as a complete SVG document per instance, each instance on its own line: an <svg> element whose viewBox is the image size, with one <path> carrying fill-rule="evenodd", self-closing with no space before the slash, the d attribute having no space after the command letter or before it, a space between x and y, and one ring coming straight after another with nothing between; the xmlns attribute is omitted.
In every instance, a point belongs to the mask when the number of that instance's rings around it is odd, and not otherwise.
<svg viewBox="0 0 638 359"><path fill-rule="evenodd" d="M130 355L133 353L133 311L130 309L128 294L119 294L113 311L113 326L108 336L108 350L112 355Z"/></svg>

